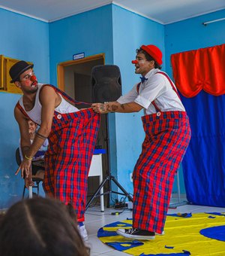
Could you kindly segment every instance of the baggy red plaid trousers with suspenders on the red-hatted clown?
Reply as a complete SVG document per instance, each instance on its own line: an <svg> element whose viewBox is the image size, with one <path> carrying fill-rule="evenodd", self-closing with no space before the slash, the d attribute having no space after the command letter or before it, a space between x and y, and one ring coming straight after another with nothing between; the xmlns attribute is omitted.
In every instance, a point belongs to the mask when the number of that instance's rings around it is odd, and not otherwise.
<svg viewBox="0 0 225 256"><path fill-rule="evenodd" d="M190 141L190 125L185 111L162 112L152 104L157 113L142 117L145 140L133 170L133 227L162 233L174 176Z"/></svg>

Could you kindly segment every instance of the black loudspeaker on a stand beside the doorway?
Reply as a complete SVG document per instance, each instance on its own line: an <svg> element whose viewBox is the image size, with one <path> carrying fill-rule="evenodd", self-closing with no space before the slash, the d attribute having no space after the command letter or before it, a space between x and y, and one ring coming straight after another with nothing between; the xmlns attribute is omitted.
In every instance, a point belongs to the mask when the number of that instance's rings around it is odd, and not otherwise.
<svg viewBox="0 0 225 256"><path fill-rule="evenodd" d="M99 65L92 68L93 102L114 102L121 96L118 66Z"/></svg>

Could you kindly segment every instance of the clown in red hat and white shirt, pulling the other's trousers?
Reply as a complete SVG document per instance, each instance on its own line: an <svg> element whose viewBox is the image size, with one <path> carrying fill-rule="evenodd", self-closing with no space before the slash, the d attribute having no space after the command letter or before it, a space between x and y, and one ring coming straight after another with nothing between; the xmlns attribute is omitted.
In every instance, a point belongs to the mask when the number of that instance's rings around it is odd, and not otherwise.
<svg viewBox="0 0 225 256"><path fill-rule="evenodd" d="M145 139L133 169L133 227L118 229L127 239L163 234L175 173L190 142L190 124L172 80L161 72L163 54L152 44L136 50L135 73L141 81L116 102L95 103L101 114L144 109Z"/></svg>

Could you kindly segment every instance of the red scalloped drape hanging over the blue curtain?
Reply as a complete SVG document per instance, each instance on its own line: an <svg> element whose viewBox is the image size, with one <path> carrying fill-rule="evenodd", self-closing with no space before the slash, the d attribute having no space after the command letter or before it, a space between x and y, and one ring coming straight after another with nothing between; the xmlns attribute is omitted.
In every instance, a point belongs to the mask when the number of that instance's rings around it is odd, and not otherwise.
<svg viewBox="0 0 225 256"><path fill-rule="evenodd" d="M175 85L191 98L200 90L214 96L225 93L225 44L175 53L171 56Z"/></svg>

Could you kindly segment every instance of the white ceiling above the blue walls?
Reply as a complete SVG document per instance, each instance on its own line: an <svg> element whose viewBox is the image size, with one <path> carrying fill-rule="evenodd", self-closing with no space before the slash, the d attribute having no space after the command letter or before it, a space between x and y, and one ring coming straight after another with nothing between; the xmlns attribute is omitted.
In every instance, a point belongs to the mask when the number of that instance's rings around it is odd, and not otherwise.
<svg viewBox="0 0 225 256"><path fill-rule="evenodd" d="M110 3L162 24L225 8L225 0L0 0L0 8L52 22Z"/></svg>

